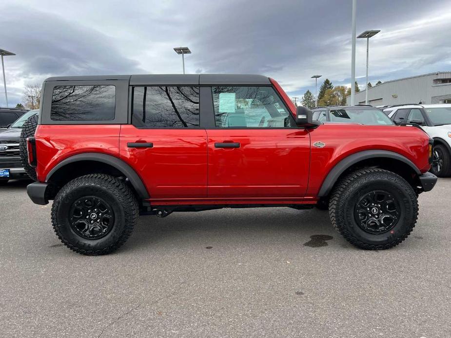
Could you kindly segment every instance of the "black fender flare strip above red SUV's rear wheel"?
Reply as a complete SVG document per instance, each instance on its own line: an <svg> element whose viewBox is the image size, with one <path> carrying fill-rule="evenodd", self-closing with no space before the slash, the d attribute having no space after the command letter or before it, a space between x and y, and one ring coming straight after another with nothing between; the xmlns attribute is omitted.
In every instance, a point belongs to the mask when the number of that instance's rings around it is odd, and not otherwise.
<svg viewBox="0 0 451 338"><path fill-rule="evenodd" d="M147 192L146 186L142 182L141 178L136 173L135 169L130 167L127 163L119 159L118 157L102 154L98 152L88 152L83 154L77 154L70 156L61 162L59 162L55 167L50 170L50 172L47 174L47 177L45 178L45 182L49 182L52 178L52 175L57 172L59 169L63 168L64 166L79 162L79 161L96 161L108 164L116 169L118 169L120 172L124 174L125 177L127 177L132 184L133 188L135 188L138 196L142 199L148 199L150 198L149 193Z"/></svg>

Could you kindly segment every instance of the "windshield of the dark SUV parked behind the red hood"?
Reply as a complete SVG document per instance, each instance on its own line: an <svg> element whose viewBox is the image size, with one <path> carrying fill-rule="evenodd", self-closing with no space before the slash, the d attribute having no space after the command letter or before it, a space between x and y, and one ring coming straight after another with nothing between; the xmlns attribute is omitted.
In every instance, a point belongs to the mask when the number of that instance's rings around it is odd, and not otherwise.
<svg viewBox="0 0 451 338"><path fill-rule="evenodd" d="M378 109L334 109L332 122L360 123L365 125L393 125L392 120Z"/></svg>

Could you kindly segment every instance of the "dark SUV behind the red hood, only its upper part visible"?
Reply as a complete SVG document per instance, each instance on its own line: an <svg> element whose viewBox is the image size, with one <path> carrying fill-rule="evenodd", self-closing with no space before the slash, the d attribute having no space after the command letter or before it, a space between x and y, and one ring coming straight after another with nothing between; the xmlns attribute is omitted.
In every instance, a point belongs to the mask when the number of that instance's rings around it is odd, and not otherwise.
<svg viewBox="0 0 451 338"><path fill-rule="evenodd" d="M363 125L393 125L392 120L373 106L315 107L313 119L321 122L358 123Z"/></svg>

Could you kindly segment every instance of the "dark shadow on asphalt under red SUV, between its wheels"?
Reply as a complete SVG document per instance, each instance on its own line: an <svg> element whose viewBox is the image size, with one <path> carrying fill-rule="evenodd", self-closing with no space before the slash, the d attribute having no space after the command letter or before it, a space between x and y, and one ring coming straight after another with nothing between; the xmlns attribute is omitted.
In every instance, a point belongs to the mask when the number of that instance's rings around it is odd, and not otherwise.
<svg viewBox="0 0 451 338"><path fill-rule="evenodd" d="M296 210L287 207L249 208L174 212L165 218L143 216L122 250L150 249L158 246L208 247L245 242L252 245L292 242L318 247L339 238L329 213L318 209ZM329 242L330 243L330 242Z"/></svg>

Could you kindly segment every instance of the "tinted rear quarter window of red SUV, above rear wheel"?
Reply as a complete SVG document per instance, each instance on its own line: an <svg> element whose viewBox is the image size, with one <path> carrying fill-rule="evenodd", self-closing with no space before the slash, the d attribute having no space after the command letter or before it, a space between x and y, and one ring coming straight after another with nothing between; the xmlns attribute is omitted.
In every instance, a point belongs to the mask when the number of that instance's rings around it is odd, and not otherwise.
<svg viewBox="0 0 451 338"><path fill-rule="evenodd" d="M55 86L50 118L53 121L111 121L115 117L116 87Z"/></svg>

